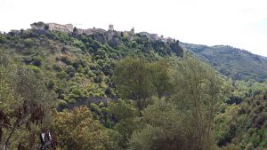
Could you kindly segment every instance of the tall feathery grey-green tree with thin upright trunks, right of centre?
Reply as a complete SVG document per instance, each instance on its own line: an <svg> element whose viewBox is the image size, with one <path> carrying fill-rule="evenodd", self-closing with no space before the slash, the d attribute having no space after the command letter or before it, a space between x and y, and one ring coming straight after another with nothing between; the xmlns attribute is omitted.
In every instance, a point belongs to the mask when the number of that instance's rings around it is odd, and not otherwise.
<svg viewBox="0 0 267 150"><path fill-rule="evenodd" d="M173 100L190 117L190 128L197 137L197 149L214 148L214 113L228 89L227 82L212 67L186 56L173 72Z"/></svg>

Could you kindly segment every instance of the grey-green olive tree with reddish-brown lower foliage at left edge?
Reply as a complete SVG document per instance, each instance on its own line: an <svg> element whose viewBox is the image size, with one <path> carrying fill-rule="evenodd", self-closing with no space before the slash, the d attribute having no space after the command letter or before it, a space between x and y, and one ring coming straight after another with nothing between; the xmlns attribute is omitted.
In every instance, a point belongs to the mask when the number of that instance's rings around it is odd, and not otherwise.
<svg viewBox="0 0 267 150"><path fill-rule="evenodd" d="M43 75L12 63L0 52L0 145L14 149L22 143L31 149L55 97L46 89Z"/></svg>

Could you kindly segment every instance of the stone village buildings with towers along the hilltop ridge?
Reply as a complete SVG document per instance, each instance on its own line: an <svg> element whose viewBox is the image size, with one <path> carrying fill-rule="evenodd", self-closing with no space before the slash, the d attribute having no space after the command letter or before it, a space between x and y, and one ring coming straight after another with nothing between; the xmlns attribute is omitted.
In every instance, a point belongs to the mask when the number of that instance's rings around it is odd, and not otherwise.
<svg viewBox="0 0 267 150"><path fill-rule="evenodd" d="M46 30L51 30L51 31L60 31L60 32L65 32L65 33L72 33L72 32L77 32L78 34L85 34L87 36L94 35L94 34L105 34L108 33L110 36L112 36L113 32L117 32L114 29L114 26L112 24L109 25L108 31L102 28L87 28L87 29L82 29L82 28L76 28L72 24L66 24L66 25L61 25L57 23L44 23L44 22L35 22L30 25L32 29L46 29ZM16 30L12 30L12 32L17 32ZM128 34L129 37L134 36L134 28L132 28L130 31L119 31L124 34ZM142 36L147 36L150 40L152 41L162 41L162 42L173 42L174 39L171 37L164 38L164 36L158 36L157 34L150 34L147 32L140 32L137 33Z"/></svg>

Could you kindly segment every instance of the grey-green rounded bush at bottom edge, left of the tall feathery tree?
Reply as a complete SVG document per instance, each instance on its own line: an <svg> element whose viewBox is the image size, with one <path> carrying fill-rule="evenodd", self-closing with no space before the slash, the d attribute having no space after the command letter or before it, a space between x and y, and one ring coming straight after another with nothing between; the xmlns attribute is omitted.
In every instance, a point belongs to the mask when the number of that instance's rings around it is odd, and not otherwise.
<svg viewBox="0 0 267 150"><path fill-rule="evenodd" d="M165 99L156 99L145 108L141 124L130 139L130 149L185 150L192 145L184 137L180 112Z"/></svg>

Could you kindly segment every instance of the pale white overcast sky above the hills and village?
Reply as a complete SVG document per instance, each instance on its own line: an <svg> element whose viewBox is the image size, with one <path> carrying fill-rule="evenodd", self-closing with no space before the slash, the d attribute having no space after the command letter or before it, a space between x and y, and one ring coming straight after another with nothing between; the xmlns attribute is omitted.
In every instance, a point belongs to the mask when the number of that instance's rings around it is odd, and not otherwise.
<svg viewBox="0 0 267 150"><path fill-rule="evenodd" d="M267 56L266 0L0 0L0 30L36 21L147 31Z"/></svg>

